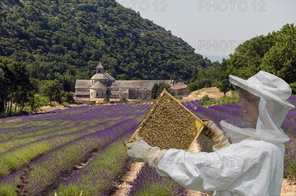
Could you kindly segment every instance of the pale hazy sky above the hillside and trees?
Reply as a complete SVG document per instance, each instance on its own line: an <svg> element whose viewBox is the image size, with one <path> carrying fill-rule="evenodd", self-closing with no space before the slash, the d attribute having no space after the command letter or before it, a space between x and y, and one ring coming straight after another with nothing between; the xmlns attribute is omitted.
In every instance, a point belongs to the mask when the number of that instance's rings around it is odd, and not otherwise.
<svg viewBox="0 0 296 196"><path fill-rule="evenodd" d="M204 56L227 56L239 42L296 25L296 0L116 1L171 30Z"/></svg>

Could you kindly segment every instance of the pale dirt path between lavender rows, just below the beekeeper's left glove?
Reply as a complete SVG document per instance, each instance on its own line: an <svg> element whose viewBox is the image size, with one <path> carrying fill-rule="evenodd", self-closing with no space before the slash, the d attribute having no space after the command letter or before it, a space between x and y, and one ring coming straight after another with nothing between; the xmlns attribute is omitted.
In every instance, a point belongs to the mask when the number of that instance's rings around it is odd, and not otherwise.
<svg viewBox="0 0 296 196"><path fill-rule="evenodd" d="M132 161L129 170L123 176L121 181L117 184L117 191L115 191L112 196L128 196L128 193L130 192L130 189L132 187L131 183L134 182L137 174L140 172L144 164L145 163Z"/></svg>

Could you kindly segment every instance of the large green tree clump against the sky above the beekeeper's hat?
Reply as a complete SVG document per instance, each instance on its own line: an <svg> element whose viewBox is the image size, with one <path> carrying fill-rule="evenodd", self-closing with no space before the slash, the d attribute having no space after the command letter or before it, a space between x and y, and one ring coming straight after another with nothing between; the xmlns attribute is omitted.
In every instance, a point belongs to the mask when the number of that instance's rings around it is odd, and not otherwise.
<svg viewBox="0 0 296 196"><path fill-rule="evenodd" d="M248 79L259 70L287 83L295 82L296 26L286 24L278 31L259 35L239 45L227 60L227 73Z"/></svg>

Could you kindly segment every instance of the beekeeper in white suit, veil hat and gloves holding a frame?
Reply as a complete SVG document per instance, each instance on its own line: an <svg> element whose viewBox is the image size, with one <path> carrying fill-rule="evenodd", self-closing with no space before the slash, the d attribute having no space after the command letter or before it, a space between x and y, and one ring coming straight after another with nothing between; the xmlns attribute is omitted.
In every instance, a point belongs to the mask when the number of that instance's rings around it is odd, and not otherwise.
<svg viewBox="0 0 296 196"><path fill-rule="evenodd" d="M215 191L214 196L280 196L289 140L281 124L295 108L286 101L291 87L264 71L248 80L229 75L229 81L240 87L243 113L241 120L220 122L231 144L212 121L205 121L203 132L214 141L214 152L160 150L137 136L128 144L128 155L187 189Z"/></svg>

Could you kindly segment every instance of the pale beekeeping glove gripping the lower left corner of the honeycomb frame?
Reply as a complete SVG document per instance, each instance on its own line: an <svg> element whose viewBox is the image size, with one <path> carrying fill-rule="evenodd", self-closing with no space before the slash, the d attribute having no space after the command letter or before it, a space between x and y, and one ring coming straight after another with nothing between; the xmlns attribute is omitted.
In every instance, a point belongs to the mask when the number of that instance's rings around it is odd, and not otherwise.
<svg viewBox="0 0 296 196"><path fill-rule="evenodd" d="M135 162L146 162L150 167L156 168L167 150L150 146L138 135L135 138L136 141L126 143L128 156Z"/></svg>

